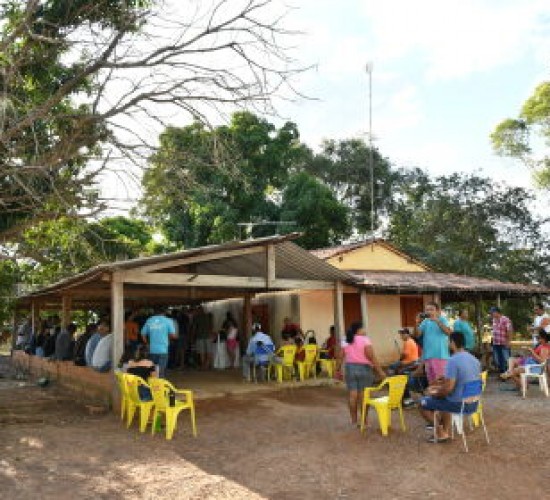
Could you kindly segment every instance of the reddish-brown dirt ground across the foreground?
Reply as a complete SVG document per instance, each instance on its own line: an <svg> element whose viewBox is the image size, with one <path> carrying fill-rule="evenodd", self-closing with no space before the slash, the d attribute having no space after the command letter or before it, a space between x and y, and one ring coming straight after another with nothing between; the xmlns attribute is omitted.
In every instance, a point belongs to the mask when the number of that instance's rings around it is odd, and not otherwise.
<svg viewBox="0 0 550 500"><path fill-rule="evenodd" d="M21 385L22 384L22 385ZM59 392L0 379L0 497L6 499L548 498L550 400L489 382L480 430L425 442L416 410L386 438L348 423L345 392L305 387L198 402L199 437L175 438L89 415Z"/></svg>

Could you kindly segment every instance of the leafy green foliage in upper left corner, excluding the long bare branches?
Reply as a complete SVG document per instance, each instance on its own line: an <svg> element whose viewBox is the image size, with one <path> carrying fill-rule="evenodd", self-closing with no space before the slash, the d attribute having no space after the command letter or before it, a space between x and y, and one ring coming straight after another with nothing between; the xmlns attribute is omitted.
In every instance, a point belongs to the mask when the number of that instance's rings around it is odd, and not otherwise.
<svg viewBox="0 0 550 500"><path fill-rule="evenodd" d="M85 26L98 32L135 31L138 11L148 3L4 3L0 10L0 239L17 239L35 219L97 208L97 191L84 166L99 153L98 144L109 137L106 123L95 117L91 97L100 66L86 61L84 53L79 57L72 52L71 36Z"/></svg>

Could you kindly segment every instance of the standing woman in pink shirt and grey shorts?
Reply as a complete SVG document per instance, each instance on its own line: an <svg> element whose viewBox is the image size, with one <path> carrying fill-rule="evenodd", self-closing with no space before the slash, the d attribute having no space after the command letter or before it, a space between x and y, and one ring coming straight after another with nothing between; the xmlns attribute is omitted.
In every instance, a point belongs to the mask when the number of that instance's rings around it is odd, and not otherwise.
<svg viewBox="0 0 550 500"><path fill-rule="evenodd" d="M346 386L349 391L349 413L351 423L357 426L357 411L363 397L363 389L372 387L374 382L373 370L384 378L386 374L380 368L374 355L372 342L367 337L362 323L353 323L346 332L346 341L342 343L342 356L346 362Z"/></svg>

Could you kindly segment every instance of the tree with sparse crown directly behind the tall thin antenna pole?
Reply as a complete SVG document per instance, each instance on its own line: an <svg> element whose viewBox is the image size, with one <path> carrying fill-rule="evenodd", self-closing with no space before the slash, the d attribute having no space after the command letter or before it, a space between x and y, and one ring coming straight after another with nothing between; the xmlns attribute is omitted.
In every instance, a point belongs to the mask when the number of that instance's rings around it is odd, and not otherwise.
<svg viewBox="0 0 550 500"><path fill-rule="evenodd" d="M391 205L397 173L377 149L372 151L374 171L374 228L380 227ZM370 151L361 139L327 140L306 170L321 179L346 205L359 234L371 230Z"/></svg>

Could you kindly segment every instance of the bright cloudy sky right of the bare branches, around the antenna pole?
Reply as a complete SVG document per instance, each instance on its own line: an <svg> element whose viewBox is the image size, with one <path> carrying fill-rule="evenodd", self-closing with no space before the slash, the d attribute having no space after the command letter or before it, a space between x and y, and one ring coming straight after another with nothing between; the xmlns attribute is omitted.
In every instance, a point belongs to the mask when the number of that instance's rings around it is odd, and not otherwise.
<svg viewBox="0 0 550 500"><path fill-rule="evenodd" d="M295 56L316 63L298 81L319 101L282 104L303 140L367 131L365 63L372 61L373 131L399 166L434 174L482 171L530 185L495 157L489 135L548 78L550 4L538 0L294 0Z"/></svg>

